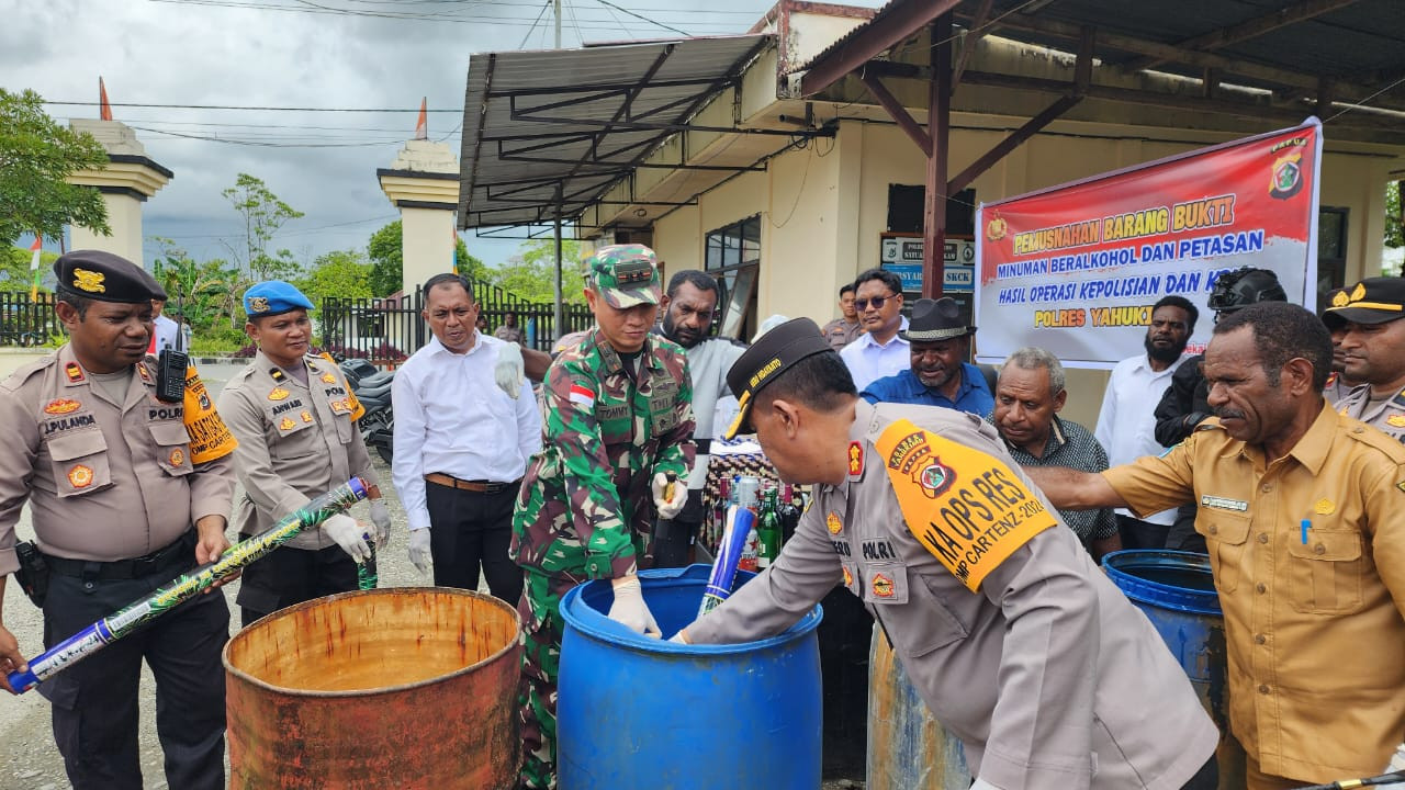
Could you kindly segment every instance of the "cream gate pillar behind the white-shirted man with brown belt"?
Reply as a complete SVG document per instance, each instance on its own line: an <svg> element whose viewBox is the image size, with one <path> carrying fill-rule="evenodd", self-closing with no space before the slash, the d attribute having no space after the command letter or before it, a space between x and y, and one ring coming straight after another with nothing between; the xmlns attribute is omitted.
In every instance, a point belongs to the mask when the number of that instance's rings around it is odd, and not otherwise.
<svg viewBox="0 0 1405 790"><path fill-rule="evenodd" d="M406 294L454 266L458 159L444 143L407 141L391 167L375 171L381 190L400 209L400 252Z"/></svg>

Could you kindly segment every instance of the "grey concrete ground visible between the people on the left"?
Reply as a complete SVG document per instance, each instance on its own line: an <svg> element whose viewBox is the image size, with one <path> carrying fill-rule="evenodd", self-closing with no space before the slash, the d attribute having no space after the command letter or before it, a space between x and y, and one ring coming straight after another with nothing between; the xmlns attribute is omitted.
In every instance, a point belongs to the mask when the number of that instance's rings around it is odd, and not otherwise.
<svg viewBox="0 0 1405 790"><path fill-rule="evenodd" d="M229 375L240 370L236 364L202 364L201 377L214 395L218 396ZM407 527L405 512L400 509L399 498L391 485L391 471L379 458L372 460L381 475L381 491L385 495L391 510L393 526L391 529L391 545L378 552L378 569L382 588L420 586L433 583L420 576L409 562L406 552ZM236 496L242 492L236 491ZM358 506L353 514L367 519L364 505ZM18 526L20 540L31 538L28 507ZM479 586L481 592L488 592L486 583ZM225 588L225 596L230 603L232 623L230 633L237 631L237 609L233 606L239 592L239 582ZM30 603L20 592L18 583L10 581L4 590L4 624L20 640L20 648L25 655L34 656L44 648L44 620L39 610ZM89 661L103 661L101 654ZM223 682L223 678L216 679ZM156 739L156 690L150 672L143 671L142 676L142 715L139 742L142 751L142 775L146 780L146 790L166 790L166 777L162 769L162 749ZM63 759L53 746L53 737L49 725L49 703L38 692L30 692L18 697L0 693L0 790L59 790L69 787L63 772ZM863 782L851 779L826 780L823 790L861 789ZM171 789L180 790L180 789Z"/></svg>

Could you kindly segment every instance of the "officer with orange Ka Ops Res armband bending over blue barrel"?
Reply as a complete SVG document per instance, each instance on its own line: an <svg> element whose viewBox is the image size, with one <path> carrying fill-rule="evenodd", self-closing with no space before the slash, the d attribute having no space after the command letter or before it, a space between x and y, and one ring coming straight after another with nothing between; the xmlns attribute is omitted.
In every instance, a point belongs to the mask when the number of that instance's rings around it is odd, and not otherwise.
<svg viewBox="0 0 1405 790"><path fill-rule="evenodd" d="M815 499L766 572L673 640L774 635L839 582L965 744L972 787L1215 787L1218 734L1184 672L993 426L868 405L809 319L762 336L728 381L728 437L754 426Z"/></svg>

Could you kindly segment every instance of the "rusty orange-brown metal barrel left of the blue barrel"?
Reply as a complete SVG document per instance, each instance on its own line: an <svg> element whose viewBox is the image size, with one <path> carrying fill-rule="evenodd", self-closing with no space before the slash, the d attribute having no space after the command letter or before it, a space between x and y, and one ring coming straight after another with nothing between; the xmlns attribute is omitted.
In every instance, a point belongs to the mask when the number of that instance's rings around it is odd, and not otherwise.
<svg viewBox="0 0 1405 790"><path fill-rule="evenodd" d="M400 588L311 600L225 645L230 787L513 787L517 611Z"/></svg>

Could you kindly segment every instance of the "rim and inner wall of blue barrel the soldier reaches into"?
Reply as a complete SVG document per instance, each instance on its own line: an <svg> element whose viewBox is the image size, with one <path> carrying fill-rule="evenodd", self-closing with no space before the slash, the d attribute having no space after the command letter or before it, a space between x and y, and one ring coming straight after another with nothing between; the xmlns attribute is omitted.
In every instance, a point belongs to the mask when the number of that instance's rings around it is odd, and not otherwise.
<svg viewBox="0 0 1405 790"><path fill-rule="evenodd" d="M652 571L639 571L639 581L651 581L655 583L663 582L672 585L669 586L697 586L698 597L701 599L701 590L707 585L708 566L707 565L690 565L687 568L659 568ZM610 579L593 579L583 582L566 590L566 595L561 597L561 617L566 621L568 628L575 628L576 631L599 640L610 642L620 648L628 648L638 652L649 652L659 655L731 655L731 654L745 654L756 652L759 649L769 649L780 647L797 640L808 637L815 628L819 627L819 621L823 620L823 609L816 603L809 611L806 611L801 619L785 628L774 637L764 640L756 640L750 642L731 642L731 644L694 644L684 645L679 642L670 642L666 638L653 640L645 637L643 634L635 634L634 631L625 628L620 623L615 623L603 611L599 611L584 600L582 596L590 585L608 583ZM651 585L652 586L652 585Z"/></svg>

